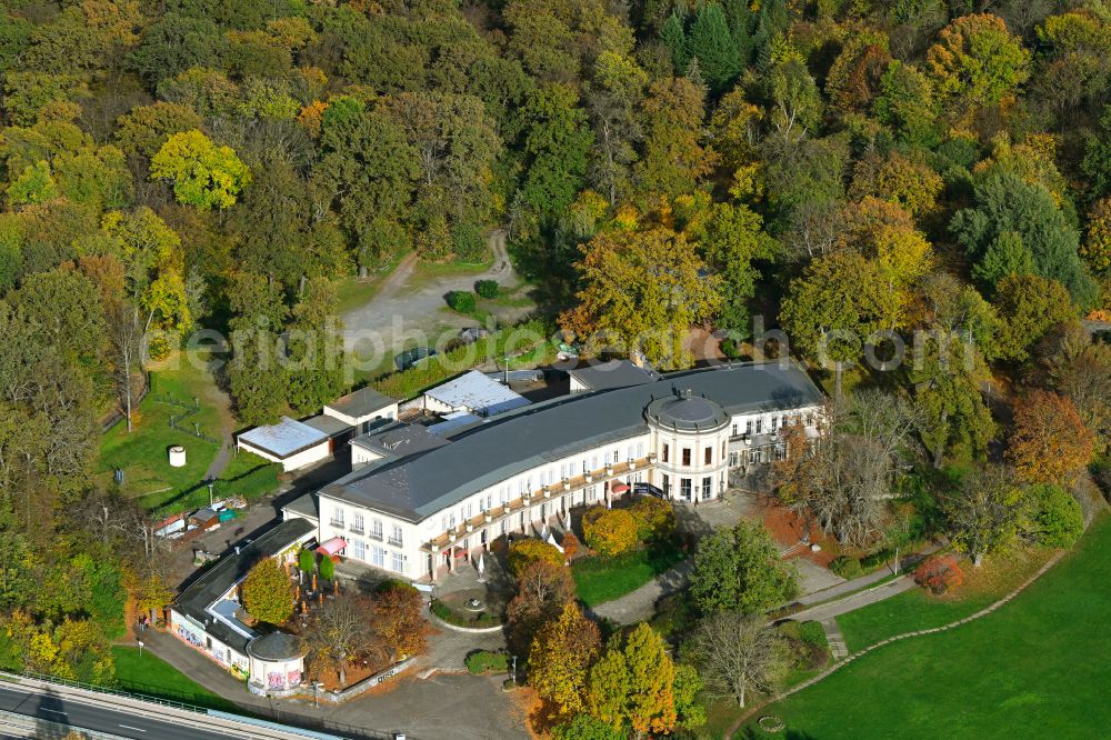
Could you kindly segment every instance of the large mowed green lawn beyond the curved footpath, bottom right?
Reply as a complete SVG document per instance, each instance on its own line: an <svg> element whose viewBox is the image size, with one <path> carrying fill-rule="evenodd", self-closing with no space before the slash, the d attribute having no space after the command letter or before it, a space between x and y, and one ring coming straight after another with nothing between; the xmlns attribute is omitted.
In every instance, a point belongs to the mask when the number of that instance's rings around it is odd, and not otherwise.
<svg viewBox="0 0 1111 740"><path fill-rule="evenodd" d="M1009 604L860 658L740 737L1098 738L1111 727L1111 518ZM755 719L780 717L779 733Z"/></svg>

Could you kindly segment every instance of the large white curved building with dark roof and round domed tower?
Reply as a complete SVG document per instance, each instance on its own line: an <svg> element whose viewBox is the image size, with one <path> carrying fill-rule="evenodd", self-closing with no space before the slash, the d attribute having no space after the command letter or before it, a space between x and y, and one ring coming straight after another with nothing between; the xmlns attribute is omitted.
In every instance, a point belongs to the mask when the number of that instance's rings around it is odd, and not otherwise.
<svg viewBox="0 0 1111 740"><path fill-rule="evenodd" d="M813 433L822 400L793 362L745 363L575 393L440 440L388 429L363 446L373 450L363 467L284 516L313 520L347 558L434 580L498 537L539 531L635 482L678 502L714 499L730 471L782 454L790 420Z"/></svg>

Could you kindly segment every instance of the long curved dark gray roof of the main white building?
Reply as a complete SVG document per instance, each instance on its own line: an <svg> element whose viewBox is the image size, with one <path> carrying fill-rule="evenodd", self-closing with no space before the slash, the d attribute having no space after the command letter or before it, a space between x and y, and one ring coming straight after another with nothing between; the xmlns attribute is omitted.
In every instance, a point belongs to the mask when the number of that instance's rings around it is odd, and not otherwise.
<svg viewBox="0 0 1111 740"><path fill-rule="evenodd" d="M451 444L403 460L372 462L320 492L420 521L544 462L647 431L645 408L688 388L729 413L791 409L822 399L794 363L672 373L651 383L562 397L494 417L449 434Z"/></svg>

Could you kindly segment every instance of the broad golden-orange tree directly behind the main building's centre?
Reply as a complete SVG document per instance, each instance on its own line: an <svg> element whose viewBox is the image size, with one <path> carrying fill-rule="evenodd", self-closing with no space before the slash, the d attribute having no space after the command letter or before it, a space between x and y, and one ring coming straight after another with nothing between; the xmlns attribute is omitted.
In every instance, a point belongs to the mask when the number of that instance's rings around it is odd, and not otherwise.
<svg viewBox="0 0 1111 740"><path fill-rule="evenodd" d="M584 284L560 326L588 352L643 352L657 367L683 368L683 339L721 303L719 281L682 234L664 228L608 231L582 248L575 269Z"/></svg>

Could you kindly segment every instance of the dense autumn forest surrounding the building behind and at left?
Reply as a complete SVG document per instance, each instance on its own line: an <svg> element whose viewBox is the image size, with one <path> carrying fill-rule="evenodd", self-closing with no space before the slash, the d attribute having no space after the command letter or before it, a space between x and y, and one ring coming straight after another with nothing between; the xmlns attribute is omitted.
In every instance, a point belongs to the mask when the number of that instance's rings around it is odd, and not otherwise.
<svg viewBox="0 0 1111 740"><path fill-rule="evenodd" d="M142 512L89 490L144 337L310 337L293 369L237 344L226 381L244 424L314 411L344 391L336 280L481 259L494 227L564 330L661 369L693 358L645 330L721 330L741 357L760 316L840 390L865 350L935 330L972 361L935 339L887 381L934 464L988 454L988 381L1040 389L1025 480L1105 454L1111 358L1079 324L1111 316L1102 0L2 8L6 666L108 681L124 603L168 599ZM821 488L791 474L800 501Z"/></svg>

